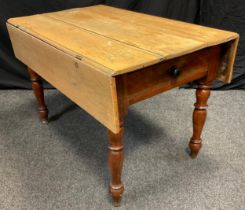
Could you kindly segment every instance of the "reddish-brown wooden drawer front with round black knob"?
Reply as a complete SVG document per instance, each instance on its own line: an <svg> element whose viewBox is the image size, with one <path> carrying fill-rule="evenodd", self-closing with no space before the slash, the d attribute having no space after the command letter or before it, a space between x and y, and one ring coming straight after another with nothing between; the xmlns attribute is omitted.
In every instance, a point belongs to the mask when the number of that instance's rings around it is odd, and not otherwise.
<svg viewBox="0 0 245 210"><path fill-rule="evenodd" d="M208 49L123 75L129 104L149 98L208 72Z"/></svg>

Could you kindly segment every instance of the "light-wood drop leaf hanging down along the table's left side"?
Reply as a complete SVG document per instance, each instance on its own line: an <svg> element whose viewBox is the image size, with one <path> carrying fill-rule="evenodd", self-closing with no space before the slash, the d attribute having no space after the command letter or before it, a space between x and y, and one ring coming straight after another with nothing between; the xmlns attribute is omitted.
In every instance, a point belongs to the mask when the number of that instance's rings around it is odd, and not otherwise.
<svg viewBox="0 0 245 210"><path fill-rule="evenodd" d="M115 78L7 25L15 55L113 132L119 131Z"/></svg>

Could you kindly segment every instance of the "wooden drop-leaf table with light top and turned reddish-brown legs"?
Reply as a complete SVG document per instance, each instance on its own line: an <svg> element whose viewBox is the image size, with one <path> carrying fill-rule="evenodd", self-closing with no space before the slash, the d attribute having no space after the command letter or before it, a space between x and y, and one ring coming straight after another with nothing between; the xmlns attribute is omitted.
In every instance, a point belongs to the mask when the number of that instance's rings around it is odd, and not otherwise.
<svg viewBox="0 0 245 210"><path fill-rule="evenodd" d="M131 104L197 81L195 158L214 79L229 83L239 35L97 5L12 18L7 22L16 57L28 66L42 122L48 122L41 77L108 129L113 204L124 186L123 121ZM164 109L164 107L163 107Z"/></svg>

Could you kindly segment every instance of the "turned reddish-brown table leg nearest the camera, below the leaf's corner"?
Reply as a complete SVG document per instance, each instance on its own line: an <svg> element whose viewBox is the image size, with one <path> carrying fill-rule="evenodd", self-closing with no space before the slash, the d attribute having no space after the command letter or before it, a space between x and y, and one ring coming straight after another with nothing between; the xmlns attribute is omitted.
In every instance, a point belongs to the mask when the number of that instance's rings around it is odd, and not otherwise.
<svg viewBox="0 0 245 210"><path fill-rule="evenodd" d="M123 168L123 128L117 134L108 130L109 155L108 164L111 172L110 193L114 206L120 206L124 186L121 181Z"/></svg>

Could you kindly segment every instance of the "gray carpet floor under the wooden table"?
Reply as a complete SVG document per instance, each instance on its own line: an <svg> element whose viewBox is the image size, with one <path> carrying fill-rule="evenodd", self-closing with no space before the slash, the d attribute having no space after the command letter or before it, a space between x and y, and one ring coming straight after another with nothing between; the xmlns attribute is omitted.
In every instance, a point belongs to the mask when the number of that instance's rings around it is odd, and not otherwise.
<svg viewBox="0 0 245 210"><path fill-rule="evenodd" d="M105 128L46 93L51 122L42 125L31 91L0 91L0 209L114 209ZM173 90L130 107L117 209L244 209L245 92L213 92L196 160L185 151L193 103L193 90Z"/></svg>

